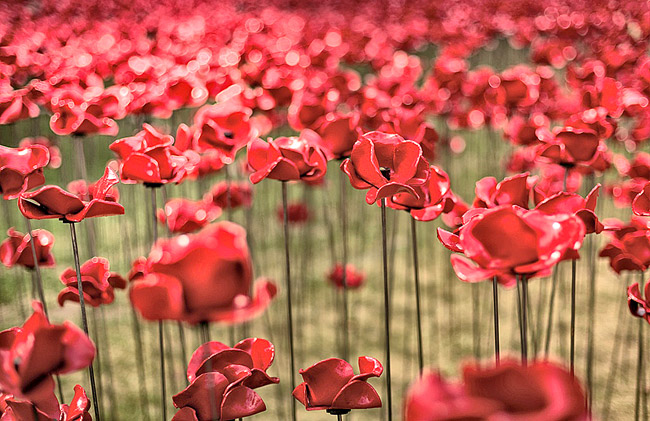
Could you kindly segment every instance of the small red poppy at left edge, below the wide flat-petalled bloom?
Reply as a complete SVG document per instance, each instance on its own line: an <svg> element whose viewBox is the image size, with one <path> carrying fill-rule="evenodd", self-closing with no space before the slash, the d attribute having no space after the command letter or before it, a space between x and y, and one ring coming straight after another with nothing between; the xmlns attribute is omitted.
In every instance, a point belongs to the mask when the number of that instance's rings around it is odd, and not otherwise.
<svg viewBox="0 0 650 421"><path fill-rule="evenodd" d="M7 231L9 238L0 244L0 260L7 267L20 265L27 269L34 269L34 255L32 254L31 238L29 234L22 234L14 228ZM47 230L37 229L32 231L36 260L39 267L52 267L55 265L52 255L54 235Z"/></svg>

